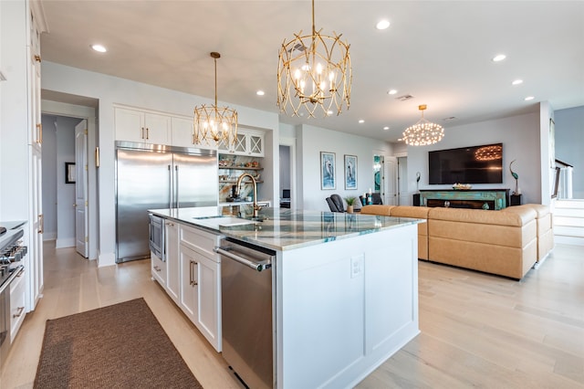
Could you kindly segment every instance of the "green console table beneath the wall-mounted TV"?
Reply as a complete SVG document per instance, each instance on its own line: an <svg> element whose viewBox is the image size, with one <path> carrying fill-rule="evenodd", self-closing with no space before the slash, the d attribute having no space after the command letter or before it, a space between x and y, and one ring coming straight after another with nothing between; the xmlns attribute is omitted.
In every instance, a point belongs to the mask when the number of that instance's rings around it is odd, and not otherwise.
<svg viewBox="0 0 584 389"><path fill-rule="evenodd" d="M421 190L420 205L496 211L509 205L509 189Z"/></svg>

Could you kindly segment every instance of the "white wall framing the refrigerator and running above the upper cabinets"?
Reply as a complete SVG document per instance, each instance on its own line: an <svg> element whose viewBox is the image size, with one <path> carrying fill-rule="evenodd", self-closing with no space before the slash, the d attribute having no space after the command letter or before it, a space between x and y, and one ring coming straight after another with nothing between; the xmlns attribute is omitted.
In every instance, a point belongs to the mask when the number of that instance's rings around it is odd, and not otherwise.
<svg viewBox="0 0 584 389"><path fill-rule="evenodd" d="M56 63L43 61L42 89L54 90L99 100L99 146L100 167L97 172L99 180L99 266L115 263L115 193L114 193L114 130L113 105L126 104L149 110L160 110L177 115L192 116L193 107L214 100L199 96L162 89L151 85L120 79L107 75L71 68ZM219 102L223 104L222 102ZM274 152L278 145L278 117L276 113L253 110L229 104L235 108L239 123L246 127L267 130L266 152ZM89 134L91 138L92 134ZM268 154L265 163L273 167L266 170L266 185L272 185L273 199L277 198L279 168L277 158ZM93 166L89 168L95 169Z"/></svg>

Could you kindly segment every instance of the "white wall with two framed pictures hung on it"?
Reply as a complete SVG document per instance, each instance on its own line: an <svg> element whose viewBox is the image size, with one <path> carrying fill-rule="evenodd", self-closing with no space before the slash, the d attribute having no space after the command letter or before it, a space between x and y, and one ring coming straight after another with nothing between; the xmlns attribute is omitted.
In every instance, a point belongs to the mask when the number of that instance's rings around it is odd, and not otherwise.
<svg viewBox="0 0 584 389"><path fill-rule="evenodd" d="M373 185L373 154L389 156L392 153L390 143L349 133L309 125L298 126L296 132L299 144L297 159L300 160L297 176L302 182L298 197L303 202L298 207L303 209L328 211L325 199L332 194L359 197ZM334 190L320 189L320 152L335 152L337 188ZM345 154L357 156L357 190L345 189Z"/></svg>

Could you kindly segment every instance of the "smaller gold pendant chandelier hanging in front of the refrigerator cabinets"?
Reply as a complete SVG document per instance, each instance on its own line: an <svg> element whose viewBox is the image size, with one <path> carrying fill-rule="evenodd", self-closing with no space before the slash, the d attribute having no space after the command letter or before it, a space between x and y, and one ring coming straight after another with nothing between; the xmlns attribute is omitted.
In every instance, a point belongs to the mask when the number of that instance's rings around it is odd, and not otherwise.
<svg viewBox="0 0 584 389"><path fill-rule="evenodd" d="M221 54L212 52L211 58L214 58L215 62L215 103L194 107L193 143L235 144L237 112L228 107L217 107L217 58L221 58Z"/></svg>

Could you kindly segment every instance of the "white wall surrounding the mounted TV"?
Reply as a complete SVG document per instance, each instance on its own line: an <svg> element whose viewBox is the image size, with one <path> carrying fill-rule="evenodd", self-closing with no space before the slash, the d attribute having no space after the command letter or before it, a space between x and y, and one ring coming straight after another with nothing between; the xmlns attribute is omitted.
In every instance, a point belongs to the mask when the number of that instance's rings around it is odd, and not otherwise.
<svg viewBox="0 0 584 389"><path fill-rule="evenodd" d="M422 173L420 189L452 189L450 185L428 184L429 151L503 142L503 184L474 184L473 188L515 190L515 179L509 172L509 163L516 160L513 170L519 174L524 203L541 203L539 112L448 127L444 131L442 142L431 146L408 147L407 187L410 196L416 191L416 172Z"/></svg>

